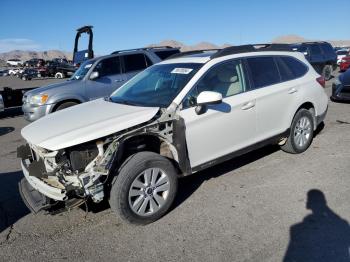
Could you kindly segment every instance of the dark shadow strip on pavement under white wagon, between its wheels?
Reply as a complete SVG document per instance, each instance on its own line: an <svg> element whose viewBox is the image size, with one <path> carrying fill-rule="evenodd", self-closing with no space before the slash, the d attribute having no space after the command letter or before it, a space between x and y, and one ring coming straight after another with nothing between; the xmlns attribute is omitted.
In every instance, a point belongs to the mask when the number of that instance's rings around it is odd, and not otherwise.
<svg viewBox="0 0 350 262"><path fill-rule="evenodd" d="M186 201L186 199L189 198L205 181L253 163L261 158L277 152L278 150L280 150L279 146L269 145L215 165L188 177L179 179L179 193L175 198L171 211Z"/></svg>

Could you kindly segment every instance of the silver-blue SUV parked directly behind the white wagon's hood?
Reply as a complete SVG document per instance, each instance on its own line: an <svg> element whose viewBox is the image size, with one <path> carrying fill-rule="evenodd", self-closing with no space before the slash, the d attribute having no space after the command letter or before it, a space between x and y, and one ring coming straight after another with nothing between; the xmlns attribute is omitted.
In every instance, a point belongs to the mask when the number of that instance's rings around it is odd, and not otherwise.
<svg viewBox="0 0 350 262"><path fill-rule="evenodd" d="M167 46L141 48L85 61L68 81L26 92L24 118L35 121L52 112L108 96L138 72L179 52L178 48Z"/></svg>

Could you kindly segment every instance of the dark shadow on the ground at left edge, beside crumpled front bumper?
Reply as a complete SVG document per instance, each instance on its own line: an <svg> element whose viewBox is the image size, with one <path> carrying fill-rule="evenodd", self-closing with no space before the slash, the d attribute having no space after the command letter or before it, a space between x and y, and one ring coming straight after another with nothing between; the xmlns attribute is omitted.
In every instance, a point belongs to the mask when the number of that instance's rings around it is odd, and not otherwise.
<svg viewBox="0 0 350 262"><path fill-rule="evenodd" d="M0 233L29 213L18 191L22 177L22 171L0 173Z"/></svg>

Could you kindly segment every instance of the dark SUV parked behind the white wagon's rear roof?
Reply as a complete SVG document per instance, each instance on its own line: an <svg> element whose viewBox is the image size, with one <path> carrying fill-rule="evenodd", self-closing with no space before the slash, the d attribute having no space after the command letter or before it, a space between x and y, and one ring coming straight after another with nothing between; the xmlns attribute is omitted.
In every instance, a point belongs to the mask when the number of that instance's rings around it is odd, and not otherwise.
<svg viewBox="0 0 350 262"><path fill-rule="evenodd" d="M337 68L337 54L327 42L304 42L292 44L294 51L304 53L306 59L317 73L326 80L331 79L332 72Z"/></svg>

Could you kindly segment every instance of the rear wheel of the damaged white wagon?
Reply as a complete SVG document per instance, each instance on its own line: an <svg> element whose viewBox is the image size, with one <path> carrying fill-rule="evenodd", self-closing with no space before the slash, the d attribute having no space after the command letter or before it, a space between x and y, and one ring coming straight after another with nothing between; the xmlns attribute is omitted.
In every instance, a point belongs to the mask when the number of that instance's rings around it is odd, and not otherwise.
<svg viewBox="0 0 350 262"><path fill-rule="evenodd" d="M294 116L289 137L281 149L291 154L305 152L312 143L314 136L314 117L307 109L300 109Z"/></svg>

